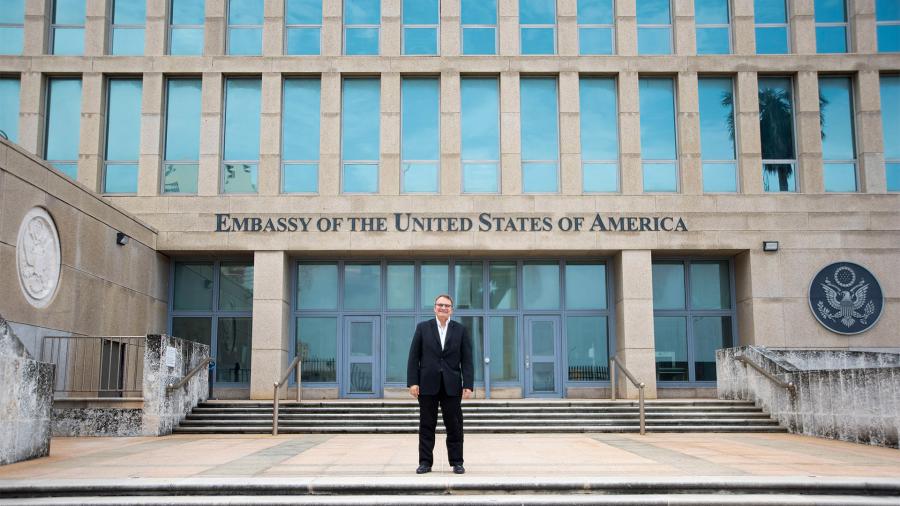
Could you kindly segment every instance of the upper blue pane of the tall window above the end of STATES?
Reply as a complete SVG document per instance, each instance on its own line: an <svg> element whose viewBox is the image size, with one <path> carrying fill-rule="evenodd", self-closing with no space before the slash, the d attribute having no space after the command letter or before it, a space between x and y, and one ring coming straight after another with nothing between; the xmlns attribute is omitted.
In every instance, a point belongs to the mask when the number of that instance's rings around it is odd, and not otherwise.
<svg viewBox="0 0 900 506"><path fill-rule="evenodd" d="M556 79L526 77L520 87L522 160L559 160Z"/></svg>

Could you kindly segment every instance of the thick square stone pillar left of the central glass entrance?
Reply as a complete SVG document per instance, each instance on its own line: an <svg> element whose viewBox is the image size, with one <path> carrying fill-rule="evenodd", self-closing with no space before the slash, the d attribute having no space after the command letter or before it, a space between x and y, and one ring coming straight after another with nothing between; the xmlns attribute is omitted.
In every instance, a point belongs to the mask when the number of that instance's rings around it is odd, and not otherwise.
<svg viewBox="0 0 900 506"><path fill-rule="evenodd" d="M290 276L287 253L257 251L253 255L253 338L250 398L271 399L290 350Z"/></svg>

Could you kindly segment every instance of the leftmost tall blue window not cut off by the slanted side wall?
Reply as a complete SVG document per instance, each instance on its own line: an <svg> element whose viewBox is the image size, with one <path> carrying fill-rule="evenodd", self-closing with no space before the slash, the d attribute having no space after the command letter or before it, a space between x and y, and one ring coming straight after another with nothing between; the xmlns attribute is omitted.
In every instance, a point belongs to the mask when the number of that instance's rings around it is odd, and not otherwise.
<svg viewBox="0 0 900 506"><path fill-rule="evenodd" d="M141 80L110 79L106 111L106 193L137 192L141 142ZM130 162L130 163L123 163Z"/></svg>

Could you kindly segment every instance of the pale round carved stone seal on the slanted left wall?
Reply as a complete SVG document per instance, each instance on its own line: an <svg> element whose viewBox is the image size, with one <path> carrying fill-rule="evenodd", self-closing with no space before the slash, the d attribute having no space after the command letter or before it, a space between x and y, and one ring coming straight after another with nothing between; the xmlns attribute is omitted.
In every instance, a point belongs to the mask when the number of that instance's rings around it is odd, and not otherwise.
<svg viewBox="0 0 900 506"><path fill-rule="evenodd" d="M60 259L53 218L41 207L32 208L22 219L16 241L19 286L32 306L46 307L53 300L59 286Z"/></svg>

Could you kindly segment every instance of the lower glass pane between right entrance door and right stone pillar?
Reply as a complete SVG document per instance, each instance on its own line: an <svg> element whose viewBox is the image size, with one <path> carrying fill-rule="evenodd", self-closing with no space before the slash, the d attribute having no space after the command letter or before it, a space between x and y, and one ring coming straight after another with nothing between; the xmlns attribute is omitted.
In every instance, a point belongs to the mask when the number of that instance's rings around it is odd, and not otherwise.
<svg viewBox="0 0 900 506"><path fill-rule="evenodd" d="M605 316L566 318L569 381L608 381L609 342Z"/></svg>

